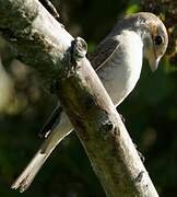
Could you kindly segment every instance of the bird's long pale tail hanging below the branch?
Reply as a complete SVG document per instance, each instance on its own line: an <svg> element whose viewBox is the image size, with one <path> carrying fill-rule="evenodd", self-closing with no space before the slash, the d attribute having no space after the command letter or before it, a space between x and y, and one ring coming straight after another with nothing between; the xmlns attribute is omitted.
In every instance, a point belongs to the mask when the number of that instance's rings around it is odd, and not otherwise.
<svg viewBox="0 0 177 197"><path fill-rule="evenodd" d="M67 119L67 118L66 118ZM67 127L66 127L67 125ZM72 131L72 126L70 121L63 121L60 124L59 128L52 130L45 142L42 144L40 149L36 152L30 164L25 167L22 174L12 184L11 188L17 189L23 193L28 188L36 174L50 155L56 146L70 132Z"/></svg>

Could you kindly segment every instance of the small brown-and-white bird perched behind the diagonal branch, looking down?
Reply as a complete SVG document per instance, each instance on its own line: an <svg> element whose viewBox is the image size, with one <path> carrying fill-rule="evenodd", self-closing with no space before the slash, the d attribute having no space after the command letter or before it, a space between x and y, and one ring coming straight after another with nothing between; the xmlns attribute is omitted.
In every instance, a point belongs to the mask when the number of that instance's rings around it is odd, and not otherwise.
<svg viewBox="0 0 177 197"><path fill-rule="evenodd" d="M153 13L139 12L117 22L87 58L114 105L118 106L139 81L143 58L155 71L167 45L168 35L163 22ZM67 114L58 104L40 132L44 142L11 187L26 190L56 146L72 130Z"/></svg>

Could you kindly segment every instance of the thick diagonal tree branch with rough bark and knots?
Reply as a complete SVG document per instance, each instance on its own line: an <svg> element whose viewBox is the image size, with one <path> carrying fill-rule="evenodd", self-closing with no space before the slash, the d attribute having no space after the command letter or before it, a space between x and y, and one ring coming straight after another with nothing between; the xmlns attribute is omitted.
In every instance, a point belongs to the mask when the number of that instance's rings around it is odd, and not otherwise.
<svg viewBox="0 0 177 197"><path fill-rule="evenodd" d="M0 0L0 31L56 93L107 196L158 196L110 97L73 37L36 0Z"/></svg>

